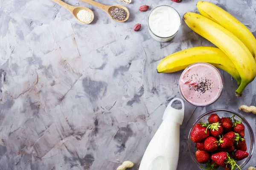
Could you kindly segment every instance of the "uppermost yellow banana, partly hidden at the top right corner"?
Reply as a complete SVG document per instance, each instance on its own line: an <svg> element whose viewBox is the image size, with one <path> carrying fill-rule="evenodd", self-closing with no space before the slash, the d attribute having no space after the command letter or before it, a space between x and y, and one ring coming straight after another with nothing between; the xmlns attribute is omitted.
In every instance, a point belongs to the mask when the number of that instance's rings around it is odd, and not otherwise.
<svg viewBox="0 0 256 170"><path fill-rule="evenodd" d="M238 37L256 60L256 39L244 24L213 3L199 1L196 6L201 15L218 23Z"/></svg>

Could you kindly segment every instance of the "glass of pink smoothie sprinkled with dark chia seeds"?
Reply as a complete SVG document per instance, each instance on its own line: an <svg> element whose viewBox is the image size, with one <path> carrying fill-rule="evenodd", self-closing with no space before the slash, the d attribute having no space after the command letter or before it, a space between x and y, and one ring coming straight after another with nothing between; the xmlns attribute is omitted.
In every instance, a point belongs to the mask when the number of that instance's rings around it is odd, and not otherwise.
<svg viewBox="0 0 256 170"><path fill-rule="evenodd" d="M213 65L198 62L189 65L181 74L180 94L195 106L209 106L218 100L223 89L223 77Z"/></svg>

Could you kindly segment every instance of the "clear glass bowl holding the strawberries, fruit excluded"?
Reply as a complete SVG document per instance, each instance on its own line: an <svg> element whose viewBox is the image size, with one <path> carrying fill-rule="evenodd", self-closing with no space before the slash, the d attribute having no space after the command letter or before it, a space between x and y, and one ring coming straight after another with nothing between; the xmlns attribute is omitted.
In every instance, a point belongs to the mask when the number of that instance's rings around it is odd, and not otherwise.
<svg viewBox="0 0 256 170"><path fill-rule="evenodd" d="M241 119L241 122L243 123L244 127L245 127L245 136L244 139L246 140L246 144L247 144L247 153L249 153L249 156L246 159L243 159L241 161L236 161L236 163L239 165L239 167L242 169L251 159L252 155L253 155L253 150L254 150L254 134L253 134L253 130L250 127L249 123L247 122L246 119L244 119L243 116L241 116L239 113L236 113L234 111L230 111L230 110L226 110L226 109L216 109L216 110L212 110L212 111L208 111L207 113L204 113L203 115L201 115L193 124L192 128L189 131L189 136L188 136L188 140L189 140L189 152L190 152L190 156L193 159L193 161L195 162L195 164L197 164L198 168L200 170L204 170L202 167L205 167L205 164L200 164L198 163L196 156L195 156L195 152L196 152L196 147L195 147L195 143L192 142L191 138L190 138L190 134L192 132L192 129L195 127L196 124L198 124L199 122L208 122L208 118L212 113L216 113L218 114L218 116L221 117L231 117L232 115L235 115L235 119L239 120ZM218 170L224 170L223 167L219 167ZM236 168L236 170L238 170L238 168Z"/></svg>

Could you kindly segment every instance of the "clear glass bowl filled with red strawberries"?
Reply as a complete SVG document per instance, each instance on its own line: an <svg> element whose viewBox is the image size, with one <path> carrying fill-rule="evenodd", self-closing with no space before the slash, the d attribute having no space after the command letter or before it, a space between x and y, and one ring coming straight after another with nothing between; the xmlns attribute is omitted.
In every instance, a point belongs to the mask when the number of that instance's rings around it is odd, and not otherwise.
<svg viewBox="0 0 256 170"><path fill-rule="evenodd" d="M204 113L189 132L189 152L201 170L241 170L254 150L254 135L239 113L226 109Z"/></svg>

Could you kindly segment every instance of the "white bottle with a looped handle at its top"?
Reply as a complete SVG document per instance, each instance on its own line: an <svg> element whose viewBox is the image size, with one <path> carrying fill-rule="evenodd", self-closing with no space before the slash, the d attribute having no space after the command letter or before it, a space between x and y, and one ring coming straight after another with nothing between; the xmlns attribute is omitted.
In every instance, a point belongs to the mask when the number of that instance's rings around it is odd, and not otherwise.
<svg viewBox="0 0 256 170"><path fill-rule="evenodd" d="M182 108L172 108L174 101ZM176 170L180 150L180 125L184 118L184 103L175 98L163 113L163 122L151 139L140 163L139 170Z"/></svg>

